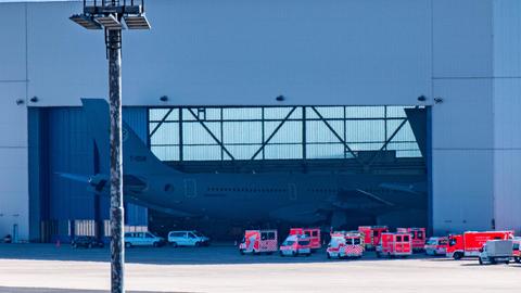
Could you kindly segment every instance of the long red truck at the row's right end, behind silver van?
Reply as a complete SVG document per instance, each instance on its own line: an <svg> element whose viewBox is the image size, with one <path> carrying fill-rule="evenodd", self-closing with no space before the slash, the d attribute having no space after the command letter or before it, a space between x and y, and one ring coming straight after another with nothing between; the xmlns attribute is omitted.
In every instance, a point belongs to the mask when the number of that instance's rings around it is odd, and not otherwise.
<svg viewBox="0 0 521 293"><path fill-rule="evenodd" d="M488 240L507 240L513 238L513 231L469 231L463 234L448 235L447 257L460 259L463 256L478 257L483 244Z"/></svg>

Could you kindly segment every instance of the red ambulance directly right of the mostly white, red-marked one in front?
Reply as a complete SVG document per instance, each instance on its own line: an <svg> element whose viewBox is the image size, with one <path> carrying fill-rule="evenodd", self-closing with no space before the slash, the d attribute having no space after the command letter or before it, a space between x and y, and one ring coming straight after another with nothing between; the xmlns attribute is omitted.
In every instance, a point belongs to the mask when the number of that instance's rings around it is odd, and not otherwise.
<svg viewBox="0 0 521 293"><path fill-rule="evenodd" d="M382 233L380 243L377 246L377 257L402 256L412 254L412 239L409 233Z"/></svg>

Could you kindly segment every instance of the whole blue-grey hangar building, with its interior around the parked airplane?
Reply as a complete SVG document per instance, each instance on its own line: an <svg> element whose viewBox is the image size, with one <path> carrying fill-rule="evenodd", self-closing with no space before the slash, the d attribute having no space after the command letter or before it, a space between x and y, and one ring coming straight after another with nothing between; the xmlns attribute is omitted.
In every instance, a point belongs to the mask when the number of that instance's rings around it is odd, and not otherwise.
<svg viewBox="0 0 521 293"><path fill-rule="evenodd" d="M68 20L81 2L0 7L0 235L106 235L106 196L69 180L106 167L92 140L102 130L81 106L107 94L103 34ZM418 214L360 221L519 232L520 10L516 0L151 0L152 30L124 33L124 120L182 176L356 175L372 182L367 196L424 199ZM126 205L128 229L177 220Z"/></svg>

